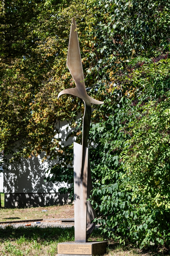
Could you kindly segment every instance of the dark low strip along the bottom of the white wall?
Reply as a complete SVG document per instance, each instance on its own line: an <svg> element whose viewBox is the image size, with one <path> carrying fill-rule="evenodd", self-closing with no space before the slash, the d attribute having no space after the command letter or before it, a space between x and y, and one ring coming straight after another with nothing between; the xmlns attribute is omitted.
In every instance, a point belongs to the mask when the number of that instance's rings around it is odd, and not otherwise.
<svg viewBox="0 0 170 256"><path fill-rule="evenodd" d="M68 193L5 193L5 208L65 205L70 202Z"/></svg>

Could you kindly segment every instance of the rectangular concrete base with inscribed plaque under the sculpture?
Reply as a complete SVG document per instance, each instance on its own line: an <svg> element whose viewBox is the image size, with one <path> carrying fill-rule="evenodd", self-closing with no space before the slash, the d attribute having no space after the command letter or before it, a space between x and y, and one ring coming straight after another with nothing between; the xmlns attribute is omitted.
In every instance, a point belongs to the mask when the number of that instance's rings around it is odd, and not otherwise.
<svg viewBox="0 0 170 256"><path fill-rule="evenodd" d="M108 242L58 243L58 256L96 256L106 253Z"/></svg>

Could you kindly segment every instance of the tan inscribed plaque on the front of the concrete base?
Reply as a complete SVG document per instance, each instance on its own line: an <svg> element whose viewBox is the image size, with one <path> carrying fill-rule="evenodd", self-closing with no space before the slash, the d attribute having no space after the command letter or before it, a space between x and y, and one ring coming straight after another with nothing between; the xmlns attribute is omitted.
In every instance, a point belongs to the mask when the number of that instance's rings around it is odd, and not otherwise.
<svg viewBox="0 0 170 256"><path fill-rule="evenodd" d="M91 244L58 244L58 254L91 254Z"/></svg>

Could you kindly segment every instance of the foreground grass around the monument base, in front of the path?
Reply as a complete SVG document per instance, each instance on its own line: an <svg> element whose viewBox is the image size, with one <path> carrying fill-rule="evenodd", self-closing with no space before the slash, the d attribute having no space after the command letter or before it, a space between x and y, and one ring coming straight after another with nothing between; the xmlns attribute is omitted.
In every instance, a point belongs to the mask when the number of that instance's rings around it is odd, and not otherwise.
<svg viewBox="0 0 170 256"><path fill-rule="evenodd" d="M106 237L95 229L89 241L104 241ZM2 256L55 256L57 255L57 243L74 241L73 228L60 227L19 227L7 226L0 228L0 255ZM139 250L134 247L121 247L113 240L108 240L109 246L105 256L163 256L170 255L158 250ZM154 248L153 248L154 249Z"/></svg>

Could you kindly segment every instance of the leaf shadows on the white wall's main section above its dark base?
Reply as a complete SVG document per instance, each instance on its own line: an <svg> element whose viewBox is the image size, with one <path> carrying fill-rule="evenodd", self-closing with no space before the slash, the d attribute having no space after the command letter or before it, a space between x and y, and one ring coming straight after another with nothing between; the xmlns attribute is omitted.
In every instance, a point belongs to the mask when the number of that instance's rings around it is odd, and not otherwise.
<svg viewBox="0 0 170 256"><path fill-rule="evenodd" d="M45 172L55 161L41 162L45 153L30 159L21 159L21 164L10 164L4 170L4 193L55 193L65 183L44 182ZM57 161L57 160L56 160Z"/></svg>

